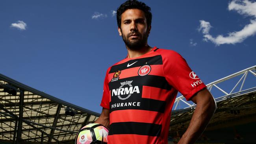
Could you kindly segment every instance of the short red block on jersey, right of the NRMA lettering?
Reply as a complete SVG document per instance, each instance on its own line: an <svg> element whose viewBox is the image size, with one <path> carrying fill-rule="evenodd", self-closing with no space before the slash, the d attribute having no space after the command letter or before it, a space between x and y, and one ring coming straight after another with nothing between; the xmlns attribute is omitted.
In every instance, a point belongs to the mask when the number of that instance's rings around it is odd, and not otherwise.
<svg viewBox="0 0 256 144"><path fill-rule="evenodd" d="M167 96L169 96L169 93L170 93L170 90L143 85L141 97L165 101L167 99Z"/></svg>

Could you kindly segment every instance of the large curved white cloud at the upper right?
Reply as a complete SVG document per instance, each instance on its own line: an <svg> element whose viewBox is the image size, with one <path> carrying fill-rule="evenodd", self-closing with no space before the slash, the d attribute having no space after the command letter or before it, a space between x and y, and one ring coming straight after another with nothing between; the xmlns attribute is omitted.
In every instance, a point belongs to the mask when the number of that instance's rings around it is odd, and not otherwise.
<svg viewBox="0 0 256 144"><path fill-rule="evenodd" d="M253 16L254 18L252 18L250 24L247 24L242 30L228 33L226 37L223 35L213 37L209 33L211 28L210 22L200 20L198 31L202 31L204 34L204 41L211 41L217 46L221 44L236 44L256 34L256 2L250 2L249 0L232 0L228 4L228 10L234 10L241 15Z"/></svg>

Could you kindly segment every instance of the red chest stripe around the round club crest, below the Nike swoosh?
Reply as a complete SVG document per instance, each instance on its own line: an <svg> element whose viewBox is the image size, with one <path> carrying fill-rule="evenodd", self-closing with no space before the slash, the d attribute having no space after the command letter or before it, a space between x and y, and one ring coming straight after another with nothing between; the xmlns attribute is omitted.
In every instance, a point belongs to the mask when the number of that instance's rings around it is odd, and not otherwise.
<svg viewBox="0 0 256 144"><path fill-rule="evenodd" d="M151 67L151 70L150 70L148 75L164 76L163 70L162 70L163 69L162 65L150 65L150 67ZM121 74L119 75L119 79L130 78L130 77L133 77L133 76L139 76L139 74L138 74L139 68L141 68L141 66L122 70ZM115 74L115 72L110 73L108 75L108 80L109 81L111 81L114 74Z"/></svg>

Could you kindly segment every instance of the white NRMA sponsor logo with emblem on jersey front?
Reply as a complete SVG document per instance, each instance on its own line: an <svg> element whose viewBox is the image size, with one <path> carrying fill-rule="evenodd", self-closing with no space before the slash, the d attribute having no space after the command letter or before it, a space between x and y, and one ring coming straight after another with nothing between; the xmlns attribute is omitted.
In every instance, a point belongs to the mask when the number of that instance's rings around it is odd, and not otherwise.
<svg viewBox="0 0 256 144"><path fill-rule="evenodd" d="M138 86L133 87L131 83L132 81L124 81L120 83L121 86L118 89L112 90L112 96L117 96L120 100L126 100L130 98L130 96L134 92L139 94L139 87ZM126 85L128 85L129 87L124 87Z"/></svg>

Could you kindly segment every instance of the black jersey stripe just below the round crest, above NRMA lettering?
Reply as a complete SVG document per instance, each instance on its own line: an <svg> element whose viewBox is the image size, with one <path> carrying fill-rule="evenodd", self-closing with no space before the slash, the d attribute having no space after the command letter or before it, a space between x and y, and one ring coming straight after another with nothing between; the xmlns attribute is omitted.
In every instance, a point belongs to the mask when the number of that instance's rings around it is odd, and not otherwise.
<svg viewBox="0 0 256 144"><path fill-rule="evenodd" d="M133 81L132 85L145 85L150 87L157 87L160 89L171 90L171 85L168 84L165 77L155 76L155 75L145 75L145 76L134 76L124 79L119 79L118 81L109 82L109 90L117 89L121 86L121 82Z"/></svg>

